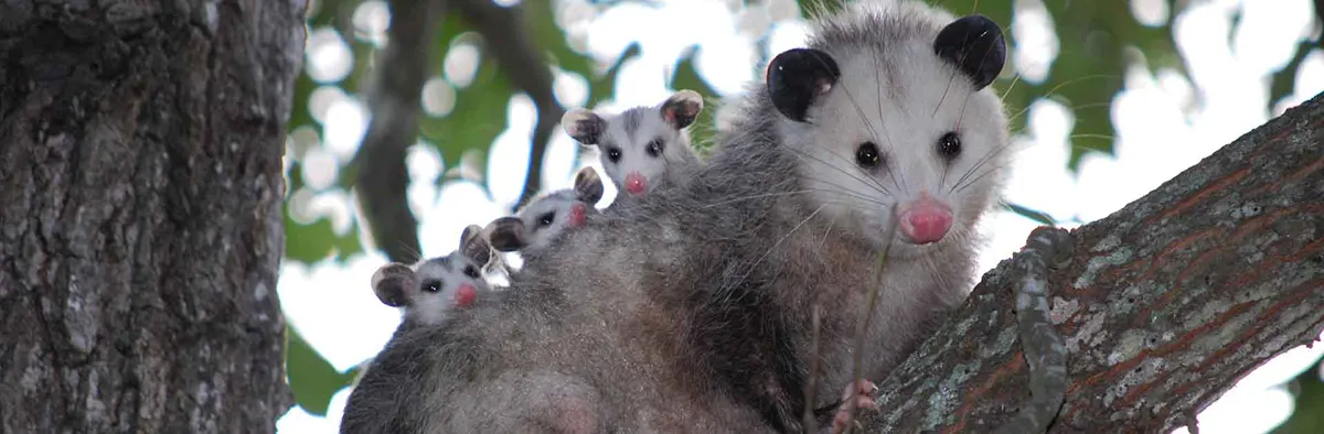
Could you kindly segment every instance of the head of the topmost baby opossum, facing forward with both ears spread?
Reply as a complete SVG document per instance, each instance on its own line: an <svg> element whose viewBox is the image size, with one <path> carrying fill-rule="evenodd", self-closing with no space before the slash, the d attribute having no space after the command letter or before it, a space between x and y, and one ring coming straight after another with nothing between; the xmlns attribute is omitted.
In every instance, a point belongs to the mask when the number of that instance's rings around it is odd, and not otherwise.
<svg viewBox="0 0 1324 434"><path fill-rule="evenodd" d="M606 177L622 192L643 196L666 183L669 165L694 160L686 128L703 111L703 98L681 90L657 107L633 107L602 116L575 108L561 116L561 127L575 140L596 146Z"/></svg>

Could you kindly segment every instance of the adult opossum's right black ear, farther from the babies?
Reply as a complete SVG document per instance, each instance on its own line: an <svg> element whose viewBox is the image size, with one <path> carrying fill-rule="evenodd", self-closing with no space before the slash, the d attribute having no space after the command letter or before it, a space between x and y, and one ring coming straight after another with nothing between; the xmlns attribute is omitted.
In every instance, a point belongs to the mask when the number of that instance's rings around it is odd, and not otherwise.
<svg viewBox="0 0 1324 434"><path fill-rule="evenodd" d="M933 52L960 69L974 82L974 90L980 90L1002 71L1006 40L997 22L982 15L969 15L937 32Z"/></svg>

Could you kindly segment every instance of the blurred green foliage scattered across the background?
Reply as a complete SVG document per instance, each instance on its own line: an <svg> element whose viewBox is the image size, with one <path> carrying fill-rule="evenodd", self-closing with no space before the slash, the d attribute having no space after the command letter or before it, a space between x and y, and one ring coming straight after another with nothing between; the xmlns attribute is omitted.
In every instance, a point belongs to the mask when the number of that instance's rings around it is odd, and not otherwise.
<svg viewBox="0 0 1324 434"><path fill-rule="evenodd" d="M761 7L768 0L744 0L736 7ZM307 25L310 30L331 28L336 29L348 44L354 56L351 73L338 82L316 83L310 75L299 74L295 82L294 108L289 122L289 131L299 128L316 131L315 139L324 135L323 126L315 120L310 111L310 95L322 86L338 86L350 98L363 99L363 85L373 73L373 67L389 67L389 65L375 65L375 52L377 46L364 34L354 28L355 12L368 1L365 0L312 0L308 9ZM651 0L616 0L616 1L589 1L597 12L616 7L621 3L637 3L643 5L655 4ZM1123 87L1123 73L1133 62L1143 62L1149 70L1170 67L1185 74L1185 65L1176 50L1172 37L1173 17L1180 15L1186 1L1168 0L1169 19L1160 26L1141 25L1132 17L1128 1L1113 0L1071 0L1057 1L1043 0L1042 7L1051 16L1053 26L1058 38L1059 53L1053 60L1046 78L1042 82L1031 82L1016 74L1012 66L1012 53L1017 44L1017 34L1013 32L1013 17L1017 16L1017 7L1026 7L1030 1L1013 0L939 0L932 1L952 11L956 15L982 13L1002 25L1010 44L1009 66L1004 77L996 83L996 89L1005 93L1005 103L1012 118L1013 131L1025 130L1030 105L1041 98L1051 98L1063 102L1075 114L1071 131L1072 155L1068 163L1075 168L1079 159L1086 152L1111 152L1115 130L1110 116L1110 105L1113 97ZM821 15L839 7L839 0L797 0L802 15ZM1035 3L1037 4L1037 3ZM588 106L609 99L616 93L617 71L628 60L638 56L641 48L637 42L629 44L616 60L598 61L572 48L565 30L555 21L559 5L555 0L524 0L523 17L532 40L538 44L538 50L545 56L549 65L564 73L577 74L588 81ZM454 91L453 108L446 114L432 115L422 112L420 119L420 139L436 147L445 164L444 173L449 169L465 164L477 163L479 168L486 167L481 160L498 134L506 130L506 107L512 95L518 93L511 81L504 75L502 67L496 65L494 56L485 52L482 38L471 32L467 24L455 15L441 20L436 30L433 45L433 71L434 77L444 77L446 56L459 44L473 44L478 48L479 64L471 82L465 86L455 86L446 82ZM761 49L767 44L767 36L756 41ZM1298 48L1290 66L1274 75L1271 83L1271 103L1279 101L1292 90L1292 83L1305 53L1317 44L1303 42ZM1137 53L1140 56L1133 56ZM694 65L698 46L691 46L677 60L673 70L670 86L675 90L691 89L700 93L707 103L720 101L720 95L704 81ZM765 54L759 54L760 62L755 67L761 69L767 61ZM761 74L756 74L761 77ZM695 144L704 150L711 146L715 131L714 116L716 107L706 105L703 114L694 127L691 135ZM363 251L359 232L361 225L355 220L350 230L336 233L331 220L319 217L303 224L291 218L290 198L297 192L306 188L303 181L303 161L301 160L303 148L319 146L316 143L295 143L294 150L287 153L291 160L289 171L289 184L286 187L286 259L303 263L316 262L326 258L343 261L347 257ZM467 155L478 156L478 161L469 161ZM348 192L352 185L352 173L356 168L344 167L348 159L339 161L338 180L328 191ZM478 173L485 171L479 169ZM485 175L481 175L485 176ZM449 175L440 176L433 183L442 183ZM312 193L323 193L316 191ZM1041 224L1053 224L1051 216L1025 208L1017 204L1006 204L1006 208L1026 218ZM299 405L314 414L324 414L331 394L350 384L351 373L339 373L312 351L294 329L289 329L287 368L291 388L295 392ZM1319 409L1324 412L1324 385L1308 382L1298 378L1301 384L1298 393L1299 409ZM1291 433L1305 431L1319 433L1319 421L1324 418L1321 412L1296 412L1284 426L1291 426ZM1313 425L1311 425L1313 423Z"/></svg>

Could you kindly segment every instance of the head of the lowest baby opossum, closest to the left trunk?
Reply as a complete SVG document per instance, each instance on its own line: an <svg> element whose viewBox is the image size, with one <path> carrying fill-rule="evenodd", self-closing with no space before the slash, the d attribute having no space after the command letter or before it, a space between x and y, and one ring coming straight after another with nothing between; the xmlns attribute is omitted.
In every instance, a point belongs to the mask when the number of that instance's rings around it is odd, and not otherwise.
<svg viewBox="0 0 1324 434"><path fill-rule="evenodd" d="M405 322L436 324L450 310L471 304L478 292L490 291L482 270L493 257L482 228L469 225L459 236L459 250L449 255L377 269L372 291L381 303L402 308Z"/></svg>

